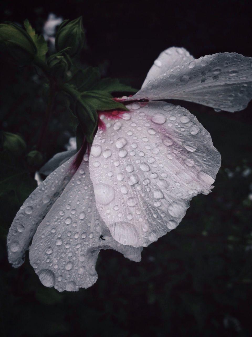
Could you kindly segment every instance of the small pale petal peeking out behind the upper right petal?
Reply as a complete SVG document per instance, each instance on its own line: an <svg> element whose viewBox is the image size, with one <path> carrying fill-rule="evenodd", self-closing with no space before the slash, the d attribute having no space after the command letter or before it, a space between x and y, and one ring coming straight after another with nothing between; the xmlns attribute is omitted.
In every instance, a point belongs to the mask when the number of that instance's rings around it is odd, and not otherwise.
<svg viewBox="0 0 252 337"><path fill-rule="evenodd" d="M149 81L156 79L167 70L191 60L194 60L194 57L184 48L171 47L166 49L154 61L153 66L149 70L146 79L143 82L142 88L145 87Z"/></svg>

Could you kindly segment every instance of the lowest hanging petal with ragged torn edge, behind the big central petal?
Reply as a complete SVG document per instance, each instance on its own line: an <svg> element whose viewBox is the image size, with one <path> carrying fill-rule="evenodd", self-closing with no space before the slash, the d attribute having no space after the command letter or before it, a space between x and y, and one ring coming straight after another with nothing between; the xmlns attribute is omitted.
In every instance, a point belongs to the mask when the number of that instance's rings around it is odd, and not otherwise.
<svg viewBox="0 0 252 337"><path fill-rule="evenodd" d="M111 237L96 209L88 163L83 161L39 225L30 262L45 286L77 291L95 283L99 251L109 248L133 261L141 259L142 247L124 246Z"/></svg>

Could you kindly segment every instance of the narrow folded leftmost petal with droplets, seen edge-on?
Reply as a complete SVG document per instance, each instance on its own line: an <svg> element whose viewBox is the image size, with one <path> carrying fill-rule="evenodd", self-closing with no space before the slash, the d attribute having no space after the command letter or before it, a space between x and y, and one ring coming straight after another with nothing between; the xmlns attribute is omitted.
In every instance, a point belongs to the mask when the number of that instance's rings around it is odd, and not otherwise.
<svg viewBox="0 0 252 337"><path fill-rule="evenodd" d="M71 164L69 160L51 173L17 212L7 237L8 258L13 267L24 262L25 251L38 225L72 178Z"/></svg>

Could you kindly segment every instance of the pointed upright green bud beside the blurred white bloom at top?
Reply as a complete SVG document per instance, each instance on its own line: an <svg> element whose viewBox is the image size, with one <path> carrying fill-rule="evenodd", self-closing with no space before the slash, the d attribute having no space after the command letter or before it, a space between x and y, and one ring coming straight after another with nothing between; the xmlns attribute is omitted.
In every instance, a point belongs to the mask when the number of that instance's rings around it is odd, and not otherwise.
<svg viewBox="0 0 252 337"><path fill-rule="evenodd" d="M69 56L75 56L81 51L84 40L85 33L82 25L82 17L70 22L69 20L65 20L57 30L55 48L57 52L60 52L65 48L71 47L67 53Z"/></svg>

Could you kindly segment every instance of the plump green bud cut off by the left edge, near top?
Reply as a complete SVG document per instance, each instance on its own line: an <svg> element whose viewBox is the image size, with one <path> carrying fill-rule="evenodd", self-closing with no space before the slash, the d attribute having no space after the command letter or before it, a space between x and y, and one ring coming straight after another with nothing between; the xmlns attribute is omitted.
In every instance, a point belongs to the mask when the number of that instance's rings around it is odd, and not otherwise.
<svg viewBox="0 0 252 337"><path fill-rule="evenodd" d="M0 44L8 51L17 64L33 60L37 48L29 34L14 23L0 24Z"/></svg>

